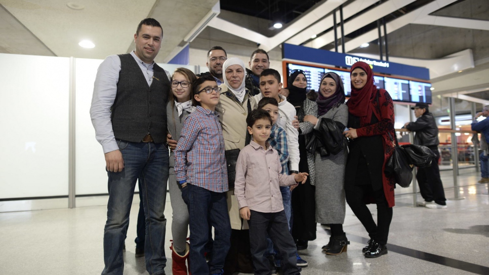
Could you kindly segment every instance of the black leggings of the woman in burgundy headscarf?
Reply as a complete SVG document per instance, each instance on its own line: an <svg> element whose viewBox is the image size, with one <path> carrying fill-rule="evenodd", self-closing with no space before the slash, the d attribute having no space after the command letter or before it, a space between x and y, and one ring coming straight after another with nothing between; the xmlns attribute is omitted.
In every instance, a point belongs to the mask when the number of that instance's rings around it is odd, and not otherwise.
<svg viewBox="0 0 489 275"><path fill-rule="evenodd" d="M369 177L365 177L369 178ZM346 202L363 227L369 232L370 239L378 243L387 244L390 222L392 221L392 208L387 204L384 189L373 190L372 184L354 185L345 189ZM372 213L365 204L365 197L373 197L377 204L377 224Z"/></svg>

